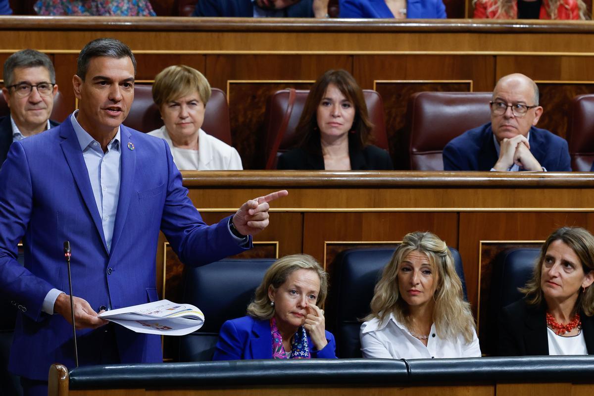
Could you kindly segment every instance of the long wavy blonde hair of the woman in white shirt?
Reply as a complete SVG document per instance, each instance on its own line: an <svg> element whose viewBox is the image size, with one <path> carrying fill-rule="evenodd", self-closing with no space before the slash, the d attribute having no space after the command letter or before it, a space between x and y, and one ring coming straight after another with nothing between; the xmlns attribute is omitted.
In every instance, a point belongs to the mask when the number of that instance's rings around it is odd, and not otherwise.
<svg viewBox="0 0 594 396"><path fill-rule="evenodd" d="M470 305L463 297L462 282L456 274L454 258L445 242L430 232L412 232L404 237L375 285L371 313L365 320L376 318L384 322L393 313L399 322L410 324L409 306L400 296L398 273L406 256L414 251L426 254L429 264L437 273L437 288L433 296L433 322L437 334L450 339L462 334L466 343L472 342L474 319Z"/></svg>

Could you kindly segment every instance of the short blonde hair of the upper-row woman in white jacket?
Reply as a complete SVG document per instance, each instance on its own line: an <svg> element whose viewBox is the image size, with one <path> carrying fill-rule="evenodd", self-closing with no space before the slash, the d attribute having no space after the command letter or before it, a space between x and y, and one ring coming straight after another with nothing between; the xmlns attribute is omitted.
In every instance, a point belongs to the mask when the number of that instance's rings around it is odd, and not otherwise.
<svg viewBox="0 0 594 396"><path fill-rule="evenodd" d="M186 65L169 66L154 78L153 102L159 106L198 91L206 106L210 99L210 84L204 75Z"/></svg>

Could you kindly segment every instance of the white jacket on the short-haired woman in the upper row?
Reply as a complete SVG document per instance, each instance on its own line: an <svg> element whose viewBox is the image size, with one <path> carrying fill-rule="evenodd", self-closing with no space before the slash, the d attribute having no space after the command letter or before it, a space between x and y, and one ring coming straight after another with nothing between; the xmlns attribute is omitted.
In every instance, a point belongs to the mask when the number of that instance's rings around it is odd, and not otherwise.
<svg viewBox="0 0 594 396"><path fill-rule="evenodd" d="M198 129L198 150L173 146L165 125L149 132L165 139L171 149L173 162L180 170L241 170L241 157L235 148Z"/></svg>

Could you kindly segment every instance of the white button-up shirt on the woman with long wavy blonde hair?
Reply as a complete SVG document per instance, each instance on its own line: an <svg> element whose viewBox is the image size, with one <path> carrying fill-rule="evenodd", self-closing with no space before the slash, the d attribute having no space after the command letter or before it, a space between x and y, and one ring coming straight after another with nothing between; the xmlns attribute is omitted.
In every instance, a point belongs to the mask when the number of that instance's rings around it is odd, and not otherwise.
<svg viewBox="0 0 594 396"><path fill-rule="evenodd" d="M476 332L472 330L472 342L466 344L459 335L456 340L443 340L431 325L431 332L425 346L400 324L394 314L380 324L378 319L361 325L361 352L363 357L379 359L431 359L433 357L480 357L481 348Z"/></svg>

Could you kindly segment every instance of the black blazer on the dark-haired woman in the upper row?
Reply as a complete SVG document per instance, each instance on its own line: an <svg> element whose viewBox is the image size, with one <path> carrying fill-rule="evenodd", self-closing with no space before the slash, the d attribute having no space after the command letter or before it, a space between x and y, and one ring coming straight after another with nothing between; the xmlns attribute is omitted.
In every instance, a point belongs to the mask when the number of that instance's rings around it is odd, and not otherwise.
<svg viewBox="0 0 594 396"><path fill-rule="evenodd" d="M352 170L392 170L390 154L377 146L369 144L363 150L352 150L350 168ZM324 158L315 156L303 148L293 148L279 157L276 169L324 170Z"/></svg>

